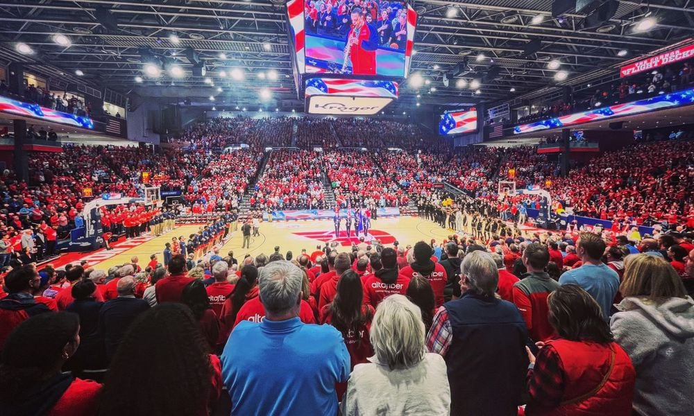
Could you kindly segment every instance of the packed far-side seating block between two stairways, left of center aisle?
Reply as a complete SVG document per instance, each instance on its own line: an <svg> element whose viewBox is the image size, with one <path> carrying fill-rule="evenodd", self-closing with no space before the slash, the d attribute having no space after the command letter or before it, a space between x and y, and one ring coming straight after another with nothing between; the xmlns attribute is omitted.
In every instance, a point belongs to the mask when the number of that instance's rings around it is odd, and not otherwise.
<svg viewBox="0 0 694 416"><path fill-rule="evenodd" d="M323 209L321 157L310 150L273 150L251 193L251 207Z"/></svg>

